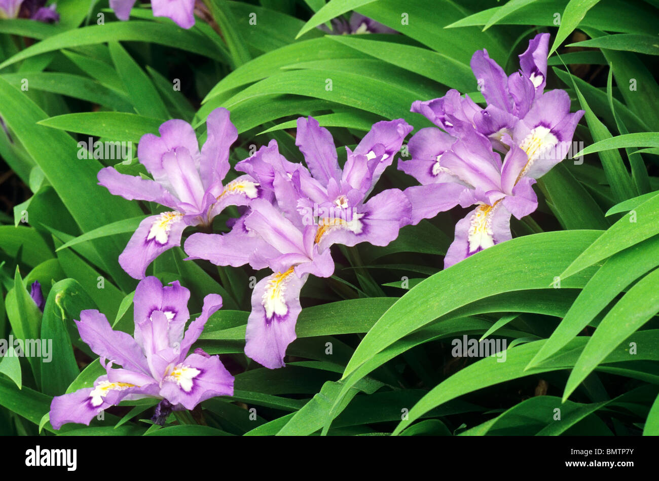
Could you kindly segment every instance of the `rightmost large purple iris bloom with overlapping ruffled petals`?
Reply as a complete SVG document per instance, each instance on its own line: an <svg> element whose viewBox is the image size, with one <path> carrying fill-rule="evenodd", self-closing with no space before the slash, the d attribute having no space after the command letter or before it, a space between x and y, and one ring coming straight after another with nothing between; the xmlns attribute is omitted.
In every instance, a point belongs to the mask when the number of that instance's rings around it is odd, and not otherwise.
<svg viewBox="0 0 659 481"><path fill-rule="evenodd" d="M569 151L584 111L570 113L564 90L544 92L548 42L549 34L533 38L519 55L520 71L511 76L486 50L474 53L471 67L487 102L484 109L457 90L412 105L442 128L416 132L408 144L412 159L399 162L400 170L422 184L405 190L413 204L412 223L457 204L478 205L457 224L445 268L510 239L510 215L519 219L537 206L534 179ZM505 154L503 163L492 148Z"/></svg>

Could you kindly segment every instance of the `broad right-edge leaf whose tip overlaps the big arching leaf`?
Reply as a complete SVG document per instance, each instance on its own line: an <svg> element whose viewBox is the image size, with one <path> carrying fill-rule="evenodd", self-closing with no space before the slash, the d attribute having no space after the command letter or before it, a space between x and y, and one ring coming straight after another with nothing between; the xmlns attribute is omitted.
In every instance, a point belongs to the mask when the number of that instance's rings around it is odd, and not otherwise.
<svg viewBox="0 0 659 481"><path fill-rule="evenodd" d="M659 194L639 205L633 214L625 215L602 233L561 273L561 279L565 279L581 271L581 269L616 254L616 252L658 234L659 223L655 222L655 219L659 214Z"/></svg>

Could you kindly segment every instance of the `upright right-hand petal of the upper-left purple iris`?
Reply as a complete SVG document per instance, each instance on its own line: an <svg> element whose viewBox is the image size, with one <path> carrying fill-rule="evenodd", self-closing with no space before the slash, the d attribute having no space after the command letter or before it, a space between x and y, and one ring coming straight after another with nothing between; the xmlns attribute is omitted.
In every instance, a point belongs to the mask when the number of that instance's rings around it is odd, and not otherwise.
<svg viewBox="0 0 659 481"><path fill-rule="evenodd" d="M231 123L229 111L218 107L206 120L208 138L202 146L199 172L208 190L211 184L221 181L229 172L229 149L238 138L238 129Z"/></svg>

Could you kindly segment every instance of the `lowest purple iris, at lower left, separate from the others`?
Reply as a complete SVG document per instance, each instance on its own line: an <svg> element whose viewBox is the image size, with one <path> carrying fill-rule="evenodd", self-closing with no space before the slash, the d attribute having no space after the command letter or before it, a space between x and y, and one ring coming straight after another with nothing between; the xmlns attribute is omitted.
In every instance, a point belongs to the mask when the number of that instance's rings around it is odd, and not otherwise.
<svg viewBox="0 0 659 481"><path fill-rule="evenodd" d="M134 337L113 331L98 310L80 312L80 339L100 356L101 365L109 361L104 364L107 374L94 387L55 397L50 406L53 428L59 430L67 422L89 425L102 410L125 399L166 400L159 407L162 414L169 407L194 409L211 397L233 395L233 376L219 356L197 351L188 355L209 316L221 308L222 298L206 296L202 313L185 330L189 298L190 291L178 281L165 287L156 277L140 281L133 301ZM113 364L122 367L114 369Z"/></svg>

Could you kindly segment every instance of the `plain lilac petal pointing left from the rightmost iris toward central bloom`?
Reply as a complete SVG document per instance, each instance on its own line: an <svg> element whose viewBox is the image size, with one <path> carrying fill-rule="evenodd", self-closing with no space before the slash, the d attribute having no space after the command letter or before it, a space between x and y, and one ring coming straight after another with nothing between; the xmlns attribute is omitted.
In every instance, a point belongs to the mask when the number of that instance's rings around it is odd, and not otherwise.
<svg viewBox="0 0 659 481"><path fill-rule="evenodd" d="M412 204L411 224L432 219L440 212L454 208L460 202L465 186L456 183L416 185L403 192Z"/></svg>

